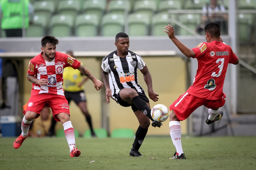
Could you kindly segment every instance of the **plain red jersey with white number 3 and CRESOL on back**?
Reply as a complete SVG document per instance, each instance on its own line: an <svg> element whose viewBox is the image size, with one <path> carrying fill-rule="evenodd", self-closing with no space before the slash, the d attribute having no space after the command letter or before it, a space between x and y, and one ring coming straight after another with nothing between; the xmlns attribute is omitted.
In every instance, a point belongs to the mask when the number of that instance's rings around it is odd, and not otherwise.
<svg viewBox="0 0 256 170"><path fill-rule="evenodd" d="M227 72L228 63L234 64L237 56L230 46L220 41L200 43L192 48L197 59L197 72L193 85L188 93L208 99L219 100L223 98L223 84Z"/></svg>

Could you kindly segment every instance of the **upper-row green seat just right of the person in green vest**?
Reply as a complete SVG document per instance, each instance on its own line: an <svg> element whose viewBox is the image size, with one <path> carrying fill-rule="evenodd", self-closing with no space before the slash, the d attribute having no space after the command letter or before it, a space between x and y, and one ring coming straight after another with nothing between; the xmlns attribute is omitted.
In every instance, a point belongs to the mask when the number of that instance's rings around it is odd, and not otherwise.
<svg viewBox="0 0 256 170"><path fill-rule="evenodd" d="M34 3L34 15L45 16L46 22L49 23L50 18L55 10L55 4L51 1L36 1Z"/></svg>

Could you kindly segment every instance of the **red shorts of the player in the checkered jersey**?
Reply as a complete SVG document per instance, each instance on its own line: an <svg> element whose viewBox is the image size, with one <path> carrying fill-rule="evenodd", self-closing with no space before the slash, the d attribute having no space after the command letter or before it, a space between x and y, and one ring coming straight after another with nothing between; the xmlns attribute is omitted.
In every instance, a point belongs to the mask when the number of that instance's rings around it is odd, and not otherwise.
<svg viewBox="0 0 256 170"><path fill-rule="evenodd" d="M25 114L26 111L33 111L36 112L40 116L40 112L44 106L48 106L52 109L53 117L56 121L60 122L60 119L57 117L59 113L69 113L69 106L68 101L65 96L57 95L57 94L49 94L49 93L42 93L33 95L29 98L26 110L23 111Z"/></svg>

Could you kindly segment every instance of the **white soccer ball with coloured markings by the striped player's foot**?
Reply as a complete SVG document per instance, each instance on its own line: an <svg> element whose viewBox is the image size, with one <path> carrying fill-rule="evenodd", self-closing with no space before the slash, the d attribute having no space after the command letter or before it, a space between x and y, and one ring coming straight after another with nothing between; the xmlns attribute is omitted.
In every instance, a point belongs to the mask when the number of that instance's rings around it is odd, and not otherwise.
<svg viewBox="0 0 256 170"><path fill-rule="evenodd" d="M153 106L150 114L154 121L164 122L169 117L169 109L163 104L157 104Z"/></svg>

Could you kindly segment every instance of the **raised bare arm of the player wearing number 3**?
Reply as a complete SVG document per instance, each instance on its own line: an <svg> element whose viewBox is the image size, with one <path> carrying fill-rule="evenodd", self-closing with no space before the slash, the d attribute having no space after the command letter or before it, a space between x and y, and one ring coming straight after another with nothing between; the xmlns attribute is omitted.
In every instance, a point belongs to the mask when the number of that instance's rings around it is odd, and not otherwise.
<svg viewBox="0 0 256 170"><path fill-rule="evenodd" d="M166 29L164 30L164 32L168 34L169 38L178 47L178 49L182 52L182 54L184 54L187 58L191 58L195 56L195 52L192 49L189 49L187 46L182 44L181 41L174 36L174 30L171 25L165 26L164 28Z"/></svg>

